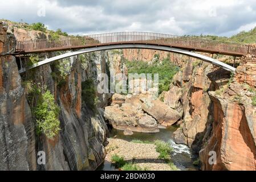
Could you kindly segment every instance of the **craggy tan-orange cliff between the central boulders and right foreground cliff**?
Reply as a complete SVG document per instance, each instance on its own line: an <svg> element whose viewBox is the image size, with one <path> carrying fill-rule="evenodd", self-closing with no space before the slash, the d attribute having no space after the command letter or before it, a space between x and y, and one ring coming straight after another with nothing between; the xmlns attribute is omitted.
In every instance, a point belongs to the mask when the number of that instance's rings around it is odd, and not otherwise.
<svg viewBox="0 0 256 182"><path fill-rule="evenodd" d="M207 121L210 119L210 98L207 89L210 80L207 75L212 71L212 65L188 60L178 72L164 93L164 103L182 115L180 128L174 133L176 143L192 147L198 153L202 145L202 137L206 132Z"/></svg>

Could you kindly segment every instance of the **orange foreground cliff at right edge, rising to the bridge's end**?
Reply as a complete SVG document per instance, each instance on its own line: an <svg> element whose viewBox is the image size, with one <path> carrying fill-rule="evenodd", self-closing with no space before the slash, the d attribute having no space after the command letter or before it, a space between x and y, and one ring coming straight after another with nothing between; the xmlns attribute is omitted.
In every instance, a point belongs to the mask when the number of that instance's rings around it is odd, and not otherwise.
<svg viewBox="0 0 256 182"><path fill-rule="evenodd" d="M248 60L246 60L246 57ZM209 92L213 101L212 134L206 133L200 151L203 170L256 170L255 97L253 55L243 57L234 80ZM220 82L218 83L220 84ZM216 152L210 165L209 152Z"/></svg>

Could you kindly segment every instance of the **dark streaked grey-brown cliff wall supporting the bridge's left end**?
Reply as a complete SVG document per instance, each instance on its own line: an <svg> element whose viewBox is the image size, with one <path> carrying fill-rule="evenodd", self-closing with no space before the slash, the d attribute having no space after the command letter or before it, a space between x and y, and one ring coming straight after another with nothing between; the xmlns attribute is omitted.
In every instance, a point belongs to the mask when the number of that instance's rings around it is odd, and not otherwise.
<svg viewBox="0 0 256 182"><path fill-rule="evenodd" d="M13 41L6 30L0 24L3 52L11 50ZM60 107L61 130L54 139L36 135L31 103L28 104L22 88L15 58L0 57L0 170L92 170L104 160L108 129L100 112L83 103L81 84L87 79L96 81L99 72L106 72L107 56L98 52L88 57L91 64L87 67L83 67L79 57L70 58L70 70L61 86L54 79L50 65L23 75L25 80L32 77L34 82L46 85L55 96ZM99 105L105 106L108 98L107 94L99 96ZM38 151L46 153L46 165L37 164Z"/></svg>

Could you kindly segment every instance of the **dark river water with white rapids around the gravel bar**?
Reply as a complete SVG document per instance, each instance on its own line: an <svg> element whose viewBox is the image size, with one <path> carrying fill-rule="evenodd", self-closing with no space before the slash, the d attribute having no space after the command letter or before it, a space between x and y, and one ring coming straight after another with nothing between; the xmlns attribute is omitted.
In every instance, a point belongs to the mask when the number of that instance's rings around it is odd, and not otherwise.
<svg viewBox="0 0 256 182"><path fill-rule="evenodd" d="M148 133L136 133L134 132L131 136L126 136L123 131L112 129L110 131L110 137L115 137L131 142L131 140L142 140L153 142L155 140L162 140L168 142L173 148L171 154L172 162L181 170L197 170L197 167L193 165L189 147L184 144L176 144L173 140L173 132L176 127L169 127L168 129L160 129L159 133L148 134ZM99 166L98 170L113 171L117 170L111 163L103 163Z"/></svg>

